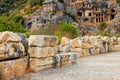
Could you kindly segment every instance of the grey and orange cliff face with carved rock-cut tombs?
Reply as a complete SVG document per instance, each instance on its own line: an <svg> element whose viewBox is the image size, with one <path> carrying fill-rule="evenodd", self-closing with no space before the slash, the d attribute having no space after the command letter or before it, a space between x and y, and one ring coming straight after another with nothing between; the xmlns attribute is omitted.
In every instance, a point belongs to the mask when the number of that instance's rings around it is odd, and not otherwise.
<svg viewBox="0 0 120 80"><path fill-rule="evenodd" d="M115 0L64 0L63 3L46 0L38 10L25 17L24 25L39 30L49 24L68 22L82 28L80 32L96 32L101 23L111 23L119 15L119 10Z"/></svg>

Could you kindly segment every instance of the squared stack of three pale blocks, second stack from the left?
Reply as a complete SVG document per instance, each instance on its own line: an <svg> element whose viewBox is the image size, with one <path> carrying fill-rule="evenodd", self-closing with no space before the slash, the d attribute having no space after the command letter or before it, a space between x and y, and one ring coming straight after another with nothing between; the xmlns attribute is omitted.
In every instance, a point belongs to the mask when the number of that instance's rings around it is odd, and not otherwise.
<svg viewBox="0 0 120 80"><path fill-rule="evenodd" d="M31 71L53 67L53 56L57 54L57 42L57 37L55 36L30 36L28 54L30 56Z"/></svg>

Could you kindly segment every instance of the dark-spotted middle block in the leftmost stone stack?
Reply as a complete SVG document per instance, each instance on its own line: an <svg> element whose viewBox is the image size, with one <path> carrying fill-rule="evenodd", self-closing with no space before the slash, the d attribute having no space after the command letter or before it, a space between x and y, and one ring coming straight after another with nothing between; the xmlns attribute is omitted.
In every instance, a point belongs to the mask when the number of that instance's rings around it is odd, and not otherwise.
<svg viewBox="0 0 120 80"><path fill-rule="evenodd" d="M22 43L0 44L0 61L5 59L19 58L25 55L26 52Z"/></svg>

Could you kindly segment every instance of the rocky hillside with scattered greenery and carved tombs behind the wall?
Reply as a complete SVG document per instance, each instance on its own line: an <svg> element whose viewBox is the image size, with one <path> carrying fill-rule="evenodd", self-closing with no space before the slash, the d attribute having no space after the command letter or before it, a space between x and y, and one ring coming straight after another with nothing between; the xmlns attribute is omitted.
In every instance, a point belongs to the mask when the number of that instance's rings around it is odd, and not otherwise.
<svg viewBox="0 0 120 80"><path fill-rule="evenodd" d="M2 21L0 27L5 26L5 29L0 31L12 31L15 25L25 27L30 32L43 28L49 30L48 27L51 25L67 22L74 25L82 35L97 33L99 30L117 34L120 30L119 2L119 0L0 0ZM8 25L12 27L6 29Z"/></svg>

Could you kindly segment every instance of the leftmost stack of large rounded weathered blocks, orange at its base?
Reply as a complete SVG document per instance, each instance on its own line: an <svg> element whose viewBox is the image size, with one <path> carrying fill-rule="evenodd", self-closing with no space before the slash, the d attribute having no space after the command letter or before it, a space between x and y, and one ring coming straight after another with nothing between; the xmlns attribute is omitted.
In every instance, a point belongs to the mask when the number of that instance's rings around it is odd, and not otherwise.
<svg viewBox="0 0 120 80"><path fill-rule="evenodd" d="M23 34L0 33L0 80L11 80L26 73L28 56L27 38Z"/></svg>

